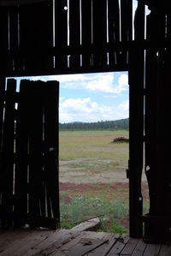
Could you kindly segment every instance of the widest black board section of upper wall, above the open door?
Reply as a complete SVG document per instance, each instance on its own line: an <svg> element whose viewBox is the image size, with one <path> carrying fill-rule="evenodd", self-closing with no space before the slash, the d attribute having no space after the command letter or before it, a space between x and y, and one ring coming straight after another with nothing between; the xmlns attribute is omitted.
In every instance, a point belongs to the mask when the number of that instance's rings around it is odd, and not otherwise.
<svg viewBox="0 0 171 256"><path fill-rule="evenodd" d="M50 56L53 47L52 13L52 2L20 7L21 51L25 55L23 68L27 70L53 68L53 57Z"/></svg>

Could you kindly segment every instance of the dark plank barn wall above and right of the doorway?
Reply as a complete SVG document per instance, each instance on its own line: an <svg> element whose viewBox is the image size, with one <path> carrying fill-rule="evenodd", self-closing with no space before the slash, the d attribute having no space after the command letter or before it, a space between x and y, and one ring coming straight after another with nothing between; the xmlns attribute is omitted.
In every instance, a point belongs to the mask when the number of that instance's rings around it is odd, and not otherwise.
<svg viewBox="0 0 171 256"><path fill-rule="evenodd" d="M150 7L146 24L144 3ZM130 235L141 236L144 222L146 240L160 240L160 234L171 239L171 175L169 152L163 140L163 134L169 128L166 121L170 88L171 9L167 1L163 1L160 7L158 1L139 1L133 40L132 0L57 0L55 6L52 1L28 6L0 6L0 33L3 38L0 40L1 163L5 77L128 70ZM170 136L167 138L169 143ZM144 145L150 211L142 217ZM1 168L1 176L2 173ZM2 196L1 190L0 193ZM0 206L2 208L2 203ZM159 223L157 229L156 223Z"/></svg>

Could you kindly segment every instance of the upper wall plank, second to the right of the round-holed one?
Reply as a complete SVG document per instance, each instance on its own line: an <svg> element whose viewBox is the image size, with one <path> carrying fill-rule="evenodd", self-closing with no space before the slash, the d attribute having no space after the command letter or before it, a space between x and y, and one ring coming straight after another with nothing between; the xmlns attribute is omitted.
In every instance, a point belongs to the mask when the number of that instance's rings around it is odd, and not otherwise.
<svg viewBox="0 0 171 256"><path fill-rule="evenodd" d="M91 0L81 1L81 39L83 49L88 51L82 55L82 66L89 68L91 65Z"/></svg>

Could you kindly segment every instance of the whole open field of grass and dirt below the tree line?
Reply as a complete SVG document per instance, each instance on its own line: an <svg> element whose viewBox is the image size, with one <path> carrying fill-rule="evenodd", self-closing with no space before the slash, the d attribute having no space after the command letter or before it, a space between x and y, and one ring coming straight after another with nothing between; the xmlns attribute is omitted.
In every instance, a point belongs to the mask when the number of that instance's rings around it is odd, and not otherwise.
<svg viewBox="0 0 171 256"><path fill-rule="evenodd" d="M101 230L128 231L127 131L60 132L60 196L62 225L102 216ZM144 211L148 186L143 176Z"/></svg>

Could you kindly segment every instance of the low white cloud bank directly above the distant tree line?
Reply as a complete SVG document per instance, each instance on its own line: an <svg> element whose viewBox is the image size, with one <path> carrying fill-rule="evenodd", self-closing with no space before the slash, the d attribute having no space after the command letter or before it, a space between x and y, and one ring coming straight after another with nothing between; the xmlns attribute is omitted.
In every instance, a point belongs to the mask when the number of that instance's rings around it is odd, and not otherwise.
<svg viewBox="0 0 171 256"><path fill-rule="evenodd" d="M119 105L97 104L91 98L68 98L60 102L60 122L97 122L127 118L128 101Z"/></svg>

